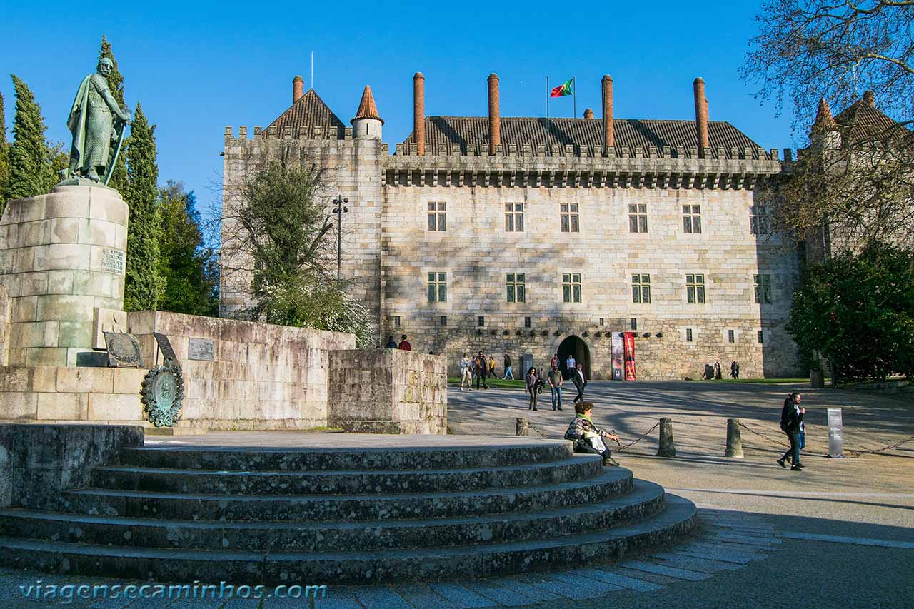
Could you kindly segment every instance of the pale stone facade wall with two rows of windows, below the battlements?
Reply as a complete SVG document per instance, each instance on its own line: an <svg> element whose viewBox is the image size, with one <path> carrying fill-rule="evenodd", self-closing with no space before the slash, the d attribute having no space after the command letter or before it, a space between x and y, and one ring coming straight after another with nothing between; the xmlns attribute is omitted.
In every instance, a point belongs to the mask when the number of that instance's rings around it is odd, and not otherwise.
<svg viewBox="0 0 914 609"><path fill-rule="evenodd" d="M751 233L752 189L388 186L385 201L385 334L446 354L452 375L462 352L483 349L499 370L511 354L517 376L521 354L543 366L574 335L590 350L591 376L609 378L605 335L630 331L632 318L640 379L700 378L706 363L728 369L733 359L743 378L795 374L783 325L798 260ZM446 231L426 230L429 201L447 203ZM508 202L524 204L523 232L505 231ZM562 203L579 206L579 232L560 230ZM648 232L629 232L629 205L647 206ZM701 233L684 232L683 205L700 206ZM447 273L447 302L428 302L428 272ZM526 302L506 302L507 272L525 273ZM580 273L581 303L563 302L563 273ZM632 303L634 273L650 275L650 304ZM705 276L705 304L687 302L686 273ZM770 305L755 303L755 274L771 275Z"/></svg>

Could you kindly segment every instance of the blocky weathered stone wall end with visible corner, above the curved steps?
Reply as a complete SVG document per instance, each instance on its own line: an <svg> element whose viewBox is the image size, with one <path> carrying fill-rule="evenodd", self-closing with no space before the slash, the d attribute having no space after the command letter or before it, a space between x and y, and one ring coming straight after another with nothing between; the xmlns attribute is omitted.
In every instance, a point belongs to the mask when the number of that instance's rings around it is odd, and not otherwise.
<svg viewBox="0 0 914 609"><path fill-rule="evenodd" d="M333 351L328 424L356 433L447 433L446 366L417 351Z"/></svg>

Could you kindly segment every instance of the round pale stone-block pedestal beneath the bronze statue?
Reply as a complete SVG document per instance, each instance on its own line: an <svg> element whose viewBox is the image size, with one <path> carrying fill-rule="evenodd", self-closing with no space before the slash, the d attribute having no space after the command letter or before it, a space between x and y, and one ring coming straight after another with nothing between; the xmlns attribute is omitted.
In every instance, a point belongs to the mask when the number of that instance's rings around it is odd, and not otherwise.
<svg viewBox="0 0 914 609"><path fill-rule="evenodd" d="M8 365L75 366L92 349L95 309L123 307L127 219L121 195L101 186L61 186L6 204Z"/></svg>

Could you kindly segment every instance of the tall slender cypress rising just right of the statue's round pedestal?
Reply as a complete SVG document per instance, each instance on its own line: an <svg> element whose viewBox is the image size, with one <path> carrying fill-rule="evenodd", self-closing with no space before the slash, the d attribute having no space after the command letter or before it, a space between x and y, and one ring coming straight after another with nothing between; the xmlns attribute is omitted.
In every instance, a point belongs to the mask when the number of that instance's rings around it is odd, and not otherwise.
<svg viewBox="0 0 914 609"><path fill-rule="evenodd" d="M127 227L127 268L123 294L125 311L155 310L165 294L161 276L156 199L159 168L155 164L155 125L149 124L137 103L130 139L127 140L127 177L122 195L130 206Z"/></svg>

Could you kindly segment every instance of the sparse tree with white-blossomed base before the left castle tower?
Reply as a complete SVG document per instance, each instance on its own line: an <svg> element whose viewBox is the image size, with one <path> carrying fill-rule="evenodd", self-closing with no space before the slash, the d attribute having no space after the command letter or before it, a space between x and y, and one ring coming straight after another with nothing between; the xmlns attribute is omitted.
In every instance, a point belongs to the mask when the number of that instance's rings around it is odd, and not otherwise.
<svg viewBox="0 0 914 609"><path fill-rule="evenodd" d="M253 276L255 305L245 314L282 326L349 332L357 345L367 345L371 315L335 279L324 172L275 162L232 186L237 194L223 201L223 256L251 262L243 271Z"/></svg>

